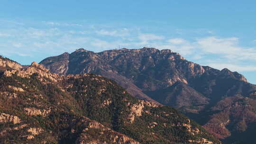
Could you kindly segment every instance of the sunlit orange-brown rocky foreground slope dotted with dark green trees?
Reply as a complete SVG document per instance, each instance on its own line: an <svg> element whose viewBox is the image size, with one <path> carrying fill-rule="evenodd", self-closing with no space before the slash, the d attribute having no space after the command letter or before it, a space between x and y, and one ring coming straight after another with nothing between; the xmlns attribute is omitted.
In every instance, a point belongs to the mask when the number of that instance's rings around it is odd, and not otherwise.
<svg viewBox="0 0 256 144"><path fill-rule="evenodd" d="M101 75L32 63L0 76L1 144L220 144L174 108L138 100Z"/></svg>

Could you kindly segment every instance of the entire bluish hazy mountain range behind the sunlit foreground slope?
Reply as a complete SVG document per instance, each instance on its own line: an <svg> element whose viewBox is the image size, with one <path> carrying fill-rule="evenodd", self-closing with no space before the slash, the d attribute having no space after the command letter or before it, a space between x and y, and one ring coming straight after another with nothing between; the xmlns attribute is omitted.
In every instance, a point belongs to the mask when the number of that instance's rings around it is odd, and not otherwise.
<svg viewBox="0 0 256 144"><path fill-rule="evenodd" d="M225 144L256 143L256 85L238 72L147 47L100 53L78 49L40 64L57 74L95 73L112 79L138 99L179 109Z"/></svg>

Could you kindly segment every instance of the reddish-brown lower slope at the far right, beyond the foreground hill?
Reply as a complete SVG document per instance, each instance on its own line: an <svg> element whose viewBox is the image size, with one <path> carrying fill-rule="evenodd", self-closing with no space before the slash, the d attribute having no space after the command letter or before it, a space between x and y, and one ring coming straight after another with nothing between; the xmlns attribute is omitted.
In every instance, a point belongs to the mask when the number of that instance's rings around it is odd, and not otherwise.
<svg viewBox="0 0 256 144"><path fill-rule="evenodd" d="M256 93L243 97L224 97L211 108L214 114L204 127L219 138L229 136L224 142L231 144L254 144L256 126ZM232 135L231 135L232 133Z"/></svg>

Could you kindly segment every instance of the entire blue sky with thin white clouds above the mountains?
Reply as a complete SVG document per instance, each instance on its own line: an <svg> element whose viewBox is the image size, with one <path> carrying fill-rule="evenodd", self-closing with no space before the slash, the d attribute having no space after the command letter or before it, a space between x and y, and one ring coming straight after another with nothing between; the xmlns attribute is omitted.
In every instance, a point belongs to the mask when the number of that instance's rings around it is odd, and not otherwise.
<svg viewBox="0 0 256 144"><path fill-rule="evenodd" d="M1 0L0 54L21 64L84 48L172 49L256 84L253 0Z"/></svg>

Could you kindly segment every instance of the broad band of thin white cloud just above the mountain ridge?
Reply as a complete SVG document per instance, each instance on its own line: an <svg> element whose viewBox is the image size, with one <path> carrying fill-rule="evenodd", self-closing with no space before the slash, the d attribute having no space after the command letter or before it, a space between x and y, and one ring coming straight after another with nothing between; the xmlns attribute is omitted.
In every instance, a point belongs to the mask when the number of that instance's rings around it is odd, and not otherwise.
<svg viewBox="0 0 256 144"><path fill-rule="evenodd" d="M174 33L180 32L180 35L174 37L173 35L153 34L151 31L142 30L143 27L85 26L62 22L40 22L38 23L40 28L36 28L33 25L4 22L6 26L11 24L16 27L0 27L0 53L6 56L16 54L23 58L24 56L44 58L64 52L73 52L81 47L100 52L119 46L120 48L147 46L171 49L188 60L217 69L229 68L238 72L256 71L252 64L256 62L255 47L241 46L238 37L212 36L215 34L209 30L187 32L178 29L174 30ZM188 33L202 35L188 39L184 37ZM208 33L207 36L206 33ZM251 65L245 64L248 61Z"/></svg>

